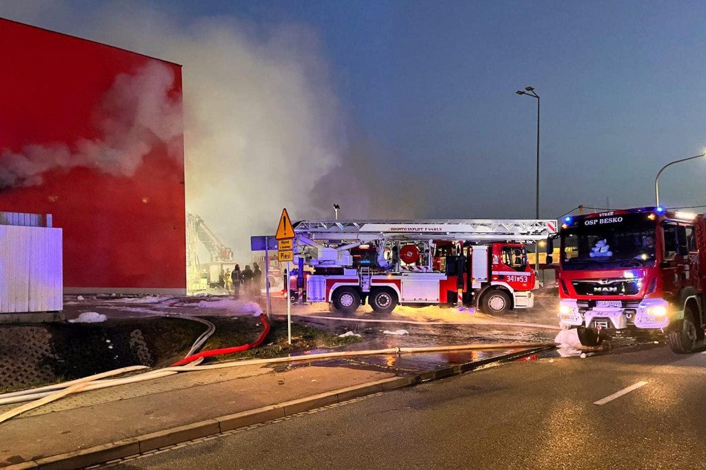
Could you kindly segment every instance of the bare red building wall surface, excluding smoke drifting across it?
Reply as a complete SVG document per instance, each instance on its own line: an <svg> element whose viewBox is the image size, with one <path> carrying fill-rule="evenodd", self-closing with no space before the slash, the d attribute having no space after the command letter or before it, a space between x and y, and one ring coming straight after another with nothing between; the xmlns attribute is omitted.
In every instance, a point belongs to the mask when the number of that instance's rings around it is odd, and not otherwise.
<svg viewBox="0 0 706 470"><path fill-rule="evenodd" d="M181 66L0 18L0 171L28 145L100 140L97 109L116 77L164 64L181 104ZM181 119L181 114L179 114ZM121 158L121 156L118 156ZM0 189L0 211L53 215L67 291L185 291L184 140L155 139L133 174L52 167Z"/></svg>

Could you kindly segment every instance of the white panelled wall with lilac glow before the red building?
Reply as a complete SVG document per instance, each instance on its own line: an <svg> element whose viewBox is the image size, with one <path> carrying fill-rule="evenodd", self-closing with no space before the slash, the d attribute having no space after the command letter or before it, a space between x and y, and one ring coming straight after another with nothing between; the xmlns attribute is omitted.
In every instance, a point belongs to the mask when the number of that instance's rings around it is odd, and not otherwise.
<svg viewBox="0 0 706 470"><path fill-rule="evenodd" d="M61 229L0 225L0 313L61 311Z"/></svg>

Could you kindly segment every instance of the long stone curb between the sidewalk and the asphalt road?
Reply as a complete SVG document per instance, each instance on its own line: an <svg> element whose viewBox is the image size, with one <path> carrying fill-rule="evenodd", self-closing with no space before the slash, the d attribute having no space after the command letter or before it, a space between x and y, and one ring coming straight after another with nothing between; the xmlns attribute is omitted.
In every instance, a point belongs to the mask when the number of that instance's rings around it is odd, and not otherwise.
<svg viewBox="0 0 706 470"><path fill-rule="evenodd" d="M42 459L28 460L21 464L0 467L2 470L25 470L25 469L77 469L95 464L102 464L111 460L131 457L136 454L160 449L170 445L179 444L187 440L205 438L210 435L225 433L229 430L252 426L272 419L284 418L293 414L321 408L331 404L346 402L350 399L364 397L366 395L395 390L422 382L431 382L453 375L460 375L474 370L489 363L503 363L513 361L517 358L530 356L539 351L544 351L550 347L540 347L527 349L517 353L495 356L469 363L447 366L435 370L426 370L414 375L402 377L391 377L375 382L367 382L353 387L341 388L331 392L311 395L301 399L290 400L275 405L263 406L262 408L241 411L236 414L220 416L197 423L186 424L176 428L157 431L155 433L138 435L134 438L119 440L109 444L97 445L88 449L75 450L64 454L56 454Z"/></svg>

